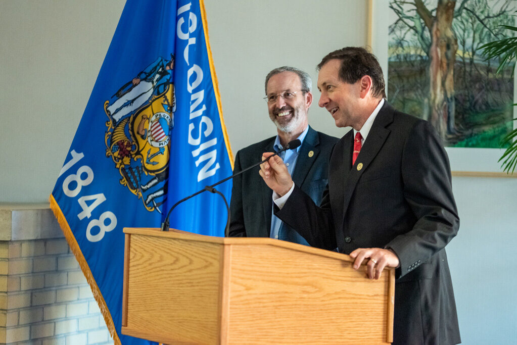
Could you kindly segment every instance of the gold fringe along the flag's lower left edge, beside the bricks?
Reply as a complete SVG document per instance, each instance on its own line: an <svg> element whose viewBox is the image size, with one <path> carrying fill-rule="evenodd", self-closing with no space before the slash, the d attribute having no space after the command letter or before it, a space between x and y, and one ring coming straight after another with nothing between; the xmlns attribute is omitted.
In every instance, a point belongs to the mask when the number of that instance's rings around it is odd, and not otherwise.
<svg viewBox="0 0 517 345"><path fill-rule="evenodd" d="M102 293L100 292L99 287L97 286L94 276L92 275L92 271L90 271L88 263L84 258L83 252L81 251L79 244L75 240L75 237L73 236L73 233L70 230L70 226L68 225L65 216L59 208L59 205L57 205L57 202L52 194L49 197L49 201L50 208L54 212L54 216L57 218L57 222L59 223L61 230L63 230L63 233L65 234L66 241L68 242L68 245L70 246L70 249L72 250L72 253L75 256L75 259L77 259L77 261L79 262L81 270L83 271L83 274L86 277L86 280L88 281L90 288L92 289L95 301L97 301L97 304L99 305L102 316L104 317L104 321L106 322L108 330L110 331L110 335L113 338L115 345L121 345L120 339L118 338L118 334L115 330L113 318L111 317L110 310L106 305L106 301L104 301L104 297L102 296Z"/></svg>

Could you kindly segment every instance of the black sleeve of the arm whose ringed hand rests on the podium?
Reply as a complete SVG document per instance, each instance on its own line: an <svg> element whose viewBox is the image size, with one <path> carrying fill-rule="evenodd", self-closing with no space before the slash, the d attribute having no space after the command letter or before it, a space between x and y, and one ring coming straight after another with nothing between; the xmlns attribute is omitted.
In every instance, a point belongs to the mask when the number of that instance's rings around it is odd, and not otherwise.
<svg viewBox="0 0 517 345"><path fill-rule="evenodd" d="M409 134L401 169L404 198L417 222L386 247L399 257L399 273L403 276L442 250L458 233L460 219L452 194L449 159L429 122L418 121Z"/></svg>

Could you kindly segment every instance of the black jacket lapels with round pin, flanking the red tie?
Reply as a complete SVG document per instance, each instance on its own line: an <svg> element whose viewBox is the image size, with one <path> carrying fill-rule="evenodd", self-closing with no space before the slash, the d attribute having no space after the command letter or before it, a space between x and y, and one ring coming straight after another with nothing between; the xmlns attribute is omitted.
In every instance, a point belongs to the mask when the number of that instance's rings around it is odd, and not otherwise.
<svg viewBox="0 0 517 345"><path fill-rule="evenodd" d="M368 170L370 163L379 153L384 145L384 142L388 138L390 130L386 128L388 124L393 121L393 108L385 101L385 104L377 114L375 121L373 122L368 137L364 140L364 145L357 156L355 164L352 169L349 170L347 177L345 178L344 190L343 190L343 214L346 215L348 205L354 193L357 185L357 181L361 177L364 171ZM353 132L352 132L353 133ZM352 148L353 141L347 140L350 147L345 150L345 164L350 166L352 164ZM362 164L362 168L358 170L359 164Z"/></svg>

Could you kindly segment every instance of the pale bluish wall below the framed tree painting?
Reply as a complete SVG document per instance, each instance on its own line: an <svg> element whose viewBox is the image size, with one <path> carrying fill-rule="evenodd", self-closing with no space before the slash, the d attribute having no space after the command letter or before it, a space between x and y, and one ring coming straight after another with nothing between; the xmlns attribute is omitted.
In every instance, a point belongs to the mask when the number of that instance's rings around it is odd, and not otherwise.
<svg viewBox="0 0 517 345"><path fill-rule="evenodd" d="M452 190L460 231L447 255L463 343L515 343L517 179L454 177Z"/></svg>

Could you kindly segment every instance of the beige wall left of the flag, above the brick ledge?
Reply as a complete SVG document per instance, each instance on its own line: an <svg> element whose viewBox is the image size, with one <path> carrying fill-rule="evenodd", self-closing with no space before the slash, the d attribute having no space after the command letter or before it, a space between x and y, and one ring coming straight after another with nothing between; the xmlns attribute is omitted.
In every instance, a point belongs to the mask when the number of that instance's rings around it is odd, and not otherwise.
<svg viewBox="0 0 517 345"><path fill-rule="evenodd" d="M124 1L0 1L0 202L47 201Z"/></svg>

